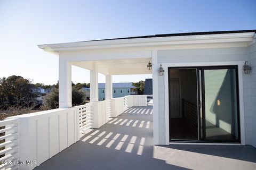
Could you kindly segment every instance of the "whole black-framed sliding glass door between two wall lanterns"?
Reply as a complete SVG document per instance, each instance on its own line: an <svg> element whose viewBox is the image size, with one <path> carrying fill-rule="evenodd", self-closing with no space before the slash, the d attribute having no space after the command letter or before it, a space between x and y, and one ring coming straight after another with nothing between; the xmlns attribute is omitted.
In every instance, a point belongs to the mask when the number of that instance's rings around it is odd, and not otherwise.
<svg viewBox="0 0 256 170"><path fill-rule="evenodd" d="M169 68L169 112L171 141L239 142L237 66Z"/></svg>

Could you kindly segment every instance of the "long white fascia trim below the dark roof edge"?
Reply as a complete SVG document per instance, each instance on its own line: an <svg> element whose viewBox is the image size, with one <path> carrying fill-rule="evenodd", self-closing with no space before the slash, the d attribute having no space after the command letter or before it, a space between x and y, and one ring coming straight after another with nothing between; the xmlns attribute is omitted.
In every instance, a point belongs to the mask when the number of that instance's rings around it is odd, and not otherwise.
<svg viewBox="0 0 256 170"><path fill-rule="evenodd" d="M61 50L81 50L81 49L103 49L122 47L145 47L145 46L166 46L178 44L201 44L201 43L232 43L241 41L252 41L255 33L225 33L216 35L195 35L195 36L173 36L173 37L152 37L133 39L113 39L84 41L76 43L45 44L38 45L39 48L49 52L59 52Z"/></svg>

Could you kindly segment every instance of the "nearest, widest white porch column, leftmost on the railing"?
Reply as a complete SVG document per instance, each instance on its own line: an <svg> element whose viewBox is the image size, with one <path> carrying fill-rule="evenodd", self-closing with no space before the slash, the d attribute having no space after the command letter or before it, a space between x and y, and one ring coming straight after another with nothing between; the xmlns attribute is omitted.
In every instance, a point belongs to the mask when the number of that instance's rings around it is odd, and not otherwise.
<svg viewBox="0 0 256 170"><path fill-rule="evenodd" d="M72 107L71 64L59 57L59 108Z"/></svg>

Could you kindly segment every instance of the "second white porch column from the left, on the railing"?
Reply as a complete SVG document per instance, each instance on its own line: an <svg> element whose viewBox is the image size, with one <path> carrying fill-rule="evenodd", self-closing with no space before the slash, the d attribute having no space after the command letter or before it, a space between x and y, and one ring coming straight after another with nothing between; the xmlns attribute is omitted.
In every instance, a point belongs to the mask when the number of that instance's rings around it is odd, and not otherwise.
<svg viewBox="0 0 256 170"><path fill-rule="evenodd" d="M98 64L93 63L92 70L90 71L90 101L99 101L99 88L98 88Z"/></svg>

